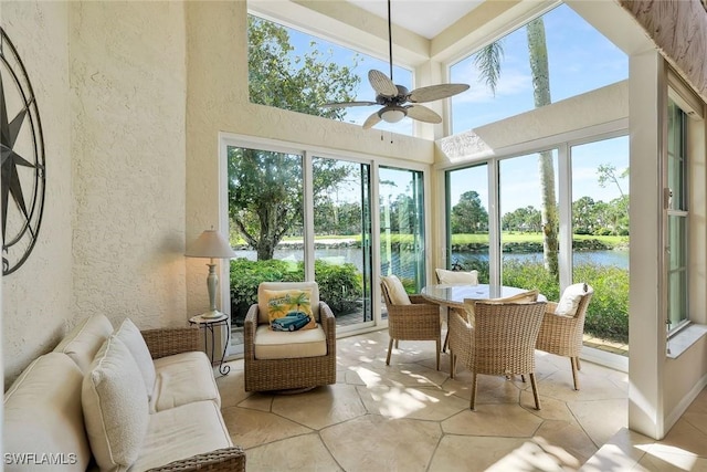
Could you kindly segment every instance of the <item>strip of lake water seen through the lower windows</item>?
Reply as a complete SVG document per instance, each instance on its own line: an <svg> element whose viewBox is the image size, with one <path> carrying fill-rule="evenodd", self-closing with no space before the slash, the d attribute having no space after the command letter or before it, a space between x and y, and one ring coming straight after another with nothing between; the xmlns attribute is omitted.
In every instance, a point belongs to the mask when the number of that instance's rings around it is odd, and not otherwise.
<svg viewBox="0 0 707 472"><path fill-rule="evenodd" d="M245 258L250 261L255 261L255 251L236 251L238 258ZM359 271L362 270L362 255L361 250L357 248L334 248L334 249L317 249L315 250L316 259L330 259L331 261L351 262ZM474 259L481 261L487 261L488 256L484 254L476 254L471 252L453 253L452 260L463 262L465 259ZM542 254L539 252L532 253L504 253L505 259L514 259L519 261L542 261ZM302 261L304 259L304 252L302 250L282 249L275 251L275 259L284 259L291 261ZM629 251L582 251L574 253L574 263L581 264L591 262L599 265L610 265L620 269L629 269Z"/></svg>

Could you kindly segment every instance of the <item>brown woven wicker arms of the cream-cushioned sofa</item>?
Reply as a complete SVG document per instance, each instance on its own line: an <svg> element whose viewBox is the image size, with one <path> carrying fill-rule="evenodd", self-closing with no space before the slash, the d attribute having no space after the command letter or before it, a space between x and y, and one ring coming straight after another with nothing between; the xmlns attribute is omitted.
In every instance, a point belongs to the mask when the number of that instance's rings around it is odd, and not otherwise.
<svg viewBox="0 0 707 472"><path fill-rule="evenodd" d="M201 349L199 346L200 331L197 326L145 329L140 333L154 359ZM243 472L245 471L245 451L240 445L233 445L149 470L149 472L172 471Z"/></svg>

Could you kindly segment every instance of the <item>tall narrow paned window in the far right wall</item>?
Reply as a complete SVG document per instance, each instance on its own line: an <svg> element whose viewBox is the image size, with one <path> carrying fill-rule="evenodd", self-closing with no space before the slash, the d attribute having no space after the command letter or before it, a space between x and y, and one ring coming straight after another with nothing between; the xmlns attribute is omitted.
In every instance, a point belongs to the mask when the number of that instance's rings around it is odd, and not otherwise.
<svg viewBox="0 0 707 472"><path fill-rule="evenodd" d="M667 324L674 332L688 321L689 208L687 114L673 101L667 107Z"/></svg>

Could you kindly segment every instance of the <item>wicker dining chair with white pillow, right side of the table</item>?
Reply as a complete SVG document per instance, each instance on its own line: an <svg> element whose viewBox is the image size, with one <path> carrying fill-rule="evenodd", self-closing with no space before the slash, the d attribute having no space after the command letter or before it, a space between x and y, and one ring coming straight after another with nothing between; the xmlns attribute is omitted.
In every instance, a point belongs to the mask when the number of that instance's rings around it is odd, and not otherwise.
<svg viewBox="0 0 707 472"><path fill-rule="evenodd" d="M582 350L587 307L593 294L590 285L579 283L564 289L559 303L548 302L536 344L539 350L570 358L574 390L579 390L579 354Z"/></svg>

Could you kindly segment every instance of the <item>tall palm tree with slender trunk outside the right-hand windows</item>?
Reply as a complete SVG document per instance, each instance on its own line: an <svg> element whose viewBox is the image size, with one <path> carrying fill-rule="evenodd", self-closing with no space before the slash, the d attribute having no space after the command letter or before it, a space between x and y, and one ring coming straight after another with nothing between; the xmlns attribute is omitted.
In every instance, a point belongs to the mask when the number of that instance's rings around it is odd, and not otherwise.
<svg viewBox="0 0 707 472"><path fill-rule="evenodd" d="M532 75L532 96L536 108L552 103L550 98L550 74L548 67L548 46L545 40L545 22L537 18L526 25L528 52L530 56L530 73ZM492 92L496 93L496 85L500 76L500 60L504 50L500 41L488 44L474 57L474 64L481 73L481 80L486 82ZM545 269L559 275L558 263L558 216L555 196L555 168L552 153L539 153L540 191L542 197L542 260Z"/></svg>

